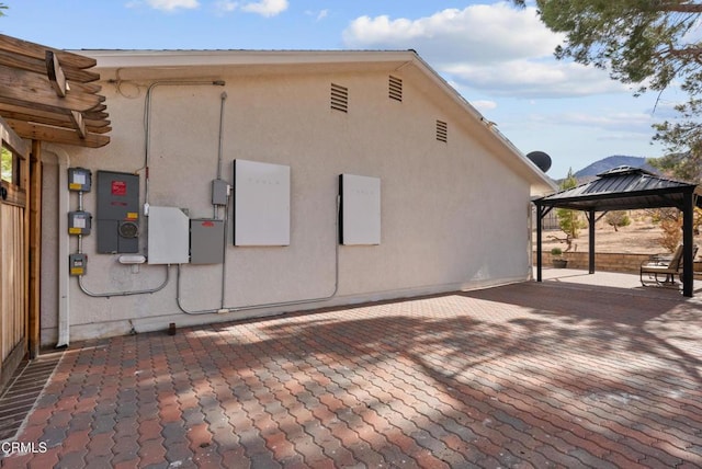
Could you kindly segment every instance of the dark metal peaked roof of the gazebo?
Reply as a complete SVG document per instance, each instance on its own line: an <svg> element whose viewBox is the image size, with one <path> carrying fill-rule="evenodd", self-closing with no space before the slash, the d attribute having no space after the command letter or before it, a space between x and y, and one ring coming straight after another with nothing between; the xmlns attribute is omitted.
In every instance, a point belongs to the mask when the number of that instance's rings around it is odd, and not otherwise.
<svg viewBox="0 0 702 469"><path fill-rule="evenodd" d="M649 171L619 167L598 174L598 179L534 201L537 206L576 210L631 210L677 207L682 210L686 195L702 195L695 184L660 178ZM702 208L702 198L695 197Z"/></svg>

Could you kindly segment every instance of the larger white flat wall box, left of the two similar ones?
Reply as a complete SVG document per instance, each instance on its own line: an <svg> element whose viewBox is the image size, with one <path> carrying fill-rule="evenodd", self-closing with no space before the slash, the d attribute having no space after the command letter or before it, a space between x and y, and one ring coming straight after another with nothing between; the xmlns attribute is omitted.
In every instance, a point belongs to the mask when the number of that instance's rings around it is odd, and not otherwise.
<svg viewBox="0 0 702 469"><path fill-rule="evenodd" d="M234 160L234 244L290 245L290 167Z"/></svg>

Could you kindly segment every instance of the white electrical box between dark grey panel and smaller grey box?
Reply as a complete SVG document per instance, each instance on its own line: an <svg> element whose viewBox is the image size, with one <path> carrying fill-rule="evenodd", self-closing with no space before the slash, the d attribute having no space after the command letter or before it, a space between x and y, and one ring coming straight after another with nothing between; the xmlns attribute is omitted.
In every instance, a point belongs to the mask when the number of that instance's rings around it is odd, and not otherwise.
<svg viewBox="0 0 702 469"><path fill-rule="evenodd" d="M178 207L149 207L148 263L190 261L190 219Z"/></svg>

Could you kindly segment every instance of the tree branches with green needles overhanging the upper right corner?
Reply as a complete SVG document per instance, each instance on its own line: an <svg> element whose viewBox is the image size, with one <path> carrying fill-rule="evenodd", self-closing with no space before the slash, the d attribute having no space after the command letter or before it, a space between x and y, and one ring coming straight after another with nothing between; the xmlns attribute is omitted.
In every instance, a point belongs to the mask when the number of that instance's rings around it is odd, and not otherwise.
<svg viewBox="0 0 702 469"><path fill-rule="evenodd" d="M512 0L524 7L525 0ZM564 33L558 59L607 69L636 84L636 93L663 92L679 84L688 102L676 106L681 121L654 126L654 140L668 155L660 165L676 176L702 180L702 41L691 34L702 2L692 0L536 0L542 22Z"/></svg>

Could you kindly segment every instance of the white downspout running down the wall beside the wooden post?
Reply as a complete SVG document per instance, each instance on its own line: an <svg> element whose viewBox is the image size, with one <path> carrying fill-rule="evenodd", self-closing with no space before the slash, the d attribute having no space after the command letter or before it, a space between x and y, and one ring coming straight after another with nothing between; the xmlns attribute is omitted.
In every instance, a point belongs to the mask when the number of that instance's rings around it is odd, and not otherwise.
<svg viewBox="0 0 702 469"><path fill-rule="evenodd" d="M68 247L70 234L68 233L68 207L70 193L68 192L68 167L70 158L63 148L52 144L45 144L44 150L56 155L58 161L58 342L56 347L65 347L69 344L70 335L70 309L68 291L70 276L68 275Z"/></svg>

